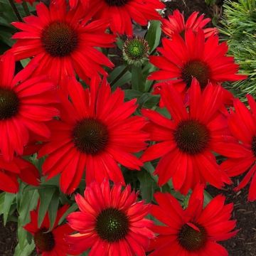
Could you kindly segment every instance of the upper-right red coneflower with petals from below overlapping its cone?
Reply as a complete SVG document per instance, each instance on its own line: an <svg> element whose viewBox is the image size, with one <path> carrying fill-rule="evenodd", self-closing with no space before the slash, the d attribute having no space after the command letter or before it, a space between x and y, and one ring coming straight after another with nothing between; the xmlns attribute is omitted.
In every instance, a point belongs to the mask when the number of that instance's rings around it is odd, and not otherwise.
<svg viewBox="0 0 256 256"><path fill-rule="evenodd" d="M191 86L192 78L198 80L202 89L208 82L216 84L247 78L246 75L237 74L239 65L234 63L233 57L226 55L227 43L219 44L218 40L216 35L206 40L200 28L198 33L192 29L185 31L185 39L177 33L171 40L163 38L163 47L157 49L161 56L149 58L160 70L151 73L149 80L169 81L176 90L185 92Z"/></svg>

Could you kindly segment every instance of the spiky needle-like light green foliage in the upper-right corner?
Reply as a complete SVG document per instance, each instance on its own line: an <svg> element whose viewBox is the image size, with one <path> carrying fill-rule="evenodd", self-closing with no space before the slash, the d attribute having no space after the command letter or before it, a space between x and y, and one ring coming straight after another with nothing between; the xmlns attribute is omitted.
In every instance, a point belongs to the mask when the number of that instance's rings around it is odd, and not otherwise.
<svg viewBox="0 0 256 256"><path fill-rule="evenodd" d="M225 0L221 21L223 39L228 41L229 53L240 65L240 72L248 75L247 80L235 82L231 87L235 95L245 100L250 93L256 96L256 1Z"/></svg>

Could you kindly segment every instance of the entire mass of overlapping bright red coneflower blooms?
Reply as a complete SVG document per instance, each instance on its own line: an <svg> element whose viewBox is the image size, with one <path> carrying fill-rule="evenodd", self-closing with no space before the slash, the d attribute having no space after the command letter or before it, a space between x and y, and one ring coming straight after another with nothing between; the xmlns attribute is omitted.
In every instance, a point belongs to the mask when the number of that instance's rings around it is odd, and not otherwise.
<svg viewBox="0 0 256 256"><path fill-rule="evenodd" d="M0 189L18 192L18 178L38 185L38 170L22 159L34 153L46 157L42 176L59 176L68 200L86 183L68 224L59 223L68 206L58 210L51 230L48 213L39 227L40 210L31 212L24 228L44 256L89 249L92 256L228 255L217 242L238 232L233 205L217 196L203 208L203 189L222 188L247 171L236 189L251 179L249 200L256 200L256 102L248 96L248 110L221 86L246 76L217 30L205 28L209 18L194 12L185 22L176 10L167 20L159 9L159 0L55 0L13 23L17 41L0 56ZM112 91L107 75L114 65L99 49L149 20L160 20L168 36L159 55L150 56L159 70L149 75L160 80L154 92L166 116L158 108L138 110L137 99L125 101L121 88ZM139 58L137 44L131 49ZM15 60L26 58L14 75ZM218 164L216 154L228 159ZM186 208L169 193L155 193L158 206L137 201L139 193L126 185L122 168L139 171L155 159L159 186L193 191ZM149 213L164 225L153 225Z"/></svg>

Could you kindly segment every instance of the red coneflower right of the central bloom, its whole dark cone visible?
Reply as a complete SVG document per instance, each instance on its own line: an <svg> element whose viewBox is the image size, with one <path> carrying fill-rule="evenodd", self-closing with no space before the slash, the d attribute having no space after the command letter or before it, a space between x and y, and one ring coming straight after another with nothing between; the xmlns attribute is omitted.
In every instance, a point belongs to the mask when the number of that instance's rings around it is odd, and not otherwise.
<svg viewBox="0 0 256 256"><path fill-rule="evenodd" d="M172 178L174 188L186 194L198 182L208 182L217 188L230 183L213 154L233 139L225 116L219 112L223 106L222 95L220 85L209 84L201 92L194 78L188 92L189 108L174 87L163 87L161 99L171 119L153 110L142 110L150 121L144 129L157 143L144 151L141 160L161 158L154 172L159 176L159 186Z"/></svg>

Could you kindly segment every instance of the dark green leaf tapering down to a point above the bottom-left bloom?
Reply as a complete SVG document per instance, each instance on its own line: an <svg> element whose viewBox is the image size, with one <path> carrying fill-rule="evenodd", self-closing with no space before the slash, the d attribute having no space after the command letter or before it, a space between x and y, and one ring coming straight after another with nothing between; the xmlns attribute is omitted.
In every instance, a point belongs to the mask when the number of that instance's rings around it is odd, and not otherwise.
<svg viewBox="0 0 256 256"><path fill-rule="evenodd" d="M55 193L55 188L45 188L38 190L40 196L40 206L38 210L38 227L41 227L43 218L46 216L46 212L50 206L50 201Z"/></svg>

